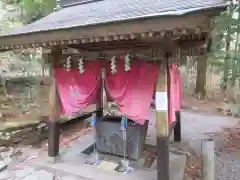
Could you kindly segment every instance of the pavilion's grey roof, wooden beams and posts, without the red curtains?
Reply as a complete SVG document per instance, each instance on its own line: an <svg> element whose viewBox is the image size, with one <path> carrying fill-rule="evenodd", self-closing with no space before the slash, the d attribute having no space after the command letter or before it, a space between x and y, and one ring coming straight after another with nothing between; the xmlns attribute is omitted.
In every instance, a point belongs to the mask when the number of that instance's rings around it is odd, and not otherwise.
<svg viewBox="0 0 240 180"><path fill-rule="evenodd" d="M226 6L224 0L60 0L47 17L1 35L0 50L42 47L45 62L53 65L61 64L69 53L72 59L106 60L129 53L161 66L156 94L167 93L167 64L178 63L182 56L204 57L211 42L212 18ZM54 81L52 87L49 156L55 157L59 130ZM102 101L99 96L97 120L103 116ZM168 108L156 108L156 122L157 177L169 180ZM179 117L177 124L179 136Z"/></svg>

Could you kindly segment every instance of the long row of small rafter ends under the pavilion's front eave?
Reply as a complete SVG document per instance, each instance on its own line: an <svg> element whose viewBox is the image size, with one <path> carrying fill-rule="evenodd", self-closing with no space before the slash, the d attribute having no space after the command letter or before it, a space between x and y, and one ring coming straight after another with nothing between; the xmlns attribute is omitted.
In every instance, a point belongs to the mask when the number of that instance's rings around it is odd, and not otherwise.
<svg viewBox="0 0 240 180"><path fill-rule="evenodd" d="M131 34L121 34L121 35L114 35L114 36L104 36L104 37L92 37L92 38L82 38L82 39L71 39L71 40L61 40L61 41L48 41L42 43L32 43L32 44L20 44L20 45L5 45L1 48L3 49L23 49L23 48L36 48L36 47L54 47L58 45L74 45L74 44L99 44L104 42L112 42L112 41L123 41L123 40L141 40L141 39L148 39L151 40L152 38L169 38L172 40L180 39L188 41L190 40L201 40L201 37L206 34L206 30L203 31L201 28L194 28L194 29L173 29L173 30L162 30L159 32L143 32L143 33L131 33ZM195 38L199 37L199 38Z"/></svg>

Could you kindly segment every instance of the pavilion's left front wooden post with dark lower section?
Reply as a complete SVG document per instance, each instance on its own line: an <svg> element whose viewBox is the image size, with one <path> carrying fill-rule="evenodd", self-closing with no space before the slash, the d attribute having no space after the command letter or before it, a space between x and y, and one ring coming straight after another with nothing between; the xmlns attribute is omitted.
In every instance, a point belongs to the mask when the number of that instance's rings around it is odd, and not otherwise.
<svg viewBox="0 0 240 180"><path fill-rule="evenodd" d="M51 78L51 88L50 88L50 115L48 124L48 156L55 158L59 155L59 137L60 137L60 121L59 121L59 107L58 107L58 93L54 78L54 61L58 59L60 55L59 50L53 50L51 54L48 54L48 60L51 62L50 66L50 78ZM48 61L49 63L49 61Z"/></svg>

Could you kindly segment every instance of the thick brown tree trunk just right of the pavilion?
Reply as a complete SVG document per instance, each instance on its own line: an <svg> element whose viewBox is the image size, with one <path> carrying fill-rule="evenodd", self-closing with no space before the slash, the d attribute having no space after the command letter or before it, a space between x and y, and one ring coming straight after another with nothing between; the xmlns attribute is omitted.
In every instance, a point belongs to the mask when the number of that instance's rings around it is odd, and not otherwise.
<svg viewBox="0 0 240 180"><path fill-rule="evenodd" d="M207 56L197 58L197 78L195 94L199 99L205 99L206 96L206 77L207 77Z"/></svg>

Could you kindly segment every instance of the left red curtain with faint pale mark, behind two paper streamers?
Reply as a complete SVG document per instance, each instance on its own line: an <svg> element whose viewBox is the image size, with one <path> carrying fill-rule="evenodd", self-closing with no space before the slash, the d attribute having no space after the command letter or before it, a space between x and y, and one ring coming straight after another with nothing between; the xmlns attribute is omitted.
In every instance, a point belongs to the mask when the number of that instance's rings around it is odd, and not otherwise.
<svg viewBox="0 0 240 180"><path fill-rule="evenodd" d="M80 74L78 69L68 72L66 68L55 68L61 114L72 115L96 103L101 82L101 62L87 62L84 70L84 73Z"/></svg>

